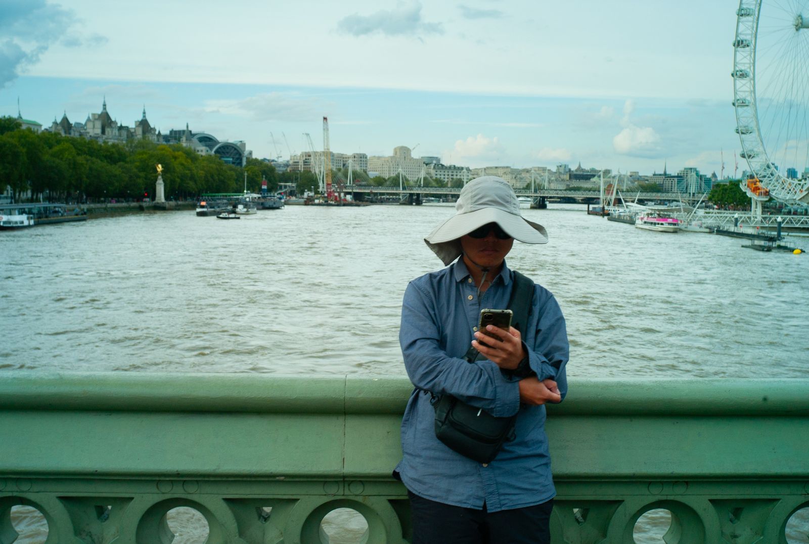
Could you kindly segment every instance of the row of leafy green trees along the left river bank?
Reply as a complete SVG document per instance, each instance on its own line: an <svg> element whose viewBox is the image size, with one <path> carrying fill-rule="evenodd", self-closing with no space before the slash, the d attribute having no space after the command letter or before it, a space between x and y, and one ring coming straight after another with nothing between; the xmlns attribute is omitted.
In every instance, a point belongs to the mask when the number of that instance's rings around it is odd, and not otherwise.
<svg viewBox="0 0 809 544"><path fill-rule="evenodd" d="M157 164L163 166L167 199L197 198L201 193L277 190L272 164L247 159L244 168L216 155L198 155L190 147L143 139L97 142L23 130L13 117L0 117L0 184L11 187L15 202L97 202L108 198L154 198ZM287 176L285 176L287 177Z"/></svg>

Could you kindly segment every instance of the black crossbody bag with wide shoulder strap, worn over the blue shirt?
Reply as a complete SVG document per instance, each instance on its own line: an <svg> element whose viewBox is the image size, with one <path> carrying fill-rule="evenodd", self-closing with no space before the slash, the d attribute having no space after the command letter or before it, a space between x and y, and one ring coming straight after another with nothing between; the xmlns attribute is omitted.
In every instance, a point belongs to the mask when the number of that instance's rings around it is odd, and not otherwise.
<svg viewBox="0 0 809 544"><path fill-rule="evenodd" d="M523 333L527 326L534 299L534 282L514 270L515 284L511 289L508 308L514 313L511 326ZM485 359L474 347L464 355L468 363ZM435 436L447 447L479 463L489 463L497 457L506 442L515 439L517 414L496 418L486 410L472 406L449 394L433 395Z"/></svg>

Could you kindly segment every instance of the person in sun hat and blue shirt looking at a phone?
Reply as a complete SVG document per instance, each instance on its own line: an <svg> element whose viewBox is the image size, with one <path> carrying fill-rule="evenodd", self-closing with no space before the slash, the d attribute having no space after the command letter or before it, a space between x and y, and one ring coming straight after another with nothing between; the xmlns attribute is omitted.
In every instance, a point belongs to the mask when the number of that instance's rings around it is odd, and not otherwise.
<svg viewBox="0 0 809 544"><path fill-rule="evenodd" d="M415 389L394 474L408 489L413 544L547 543L556 490L544 404L567 393L565 319L553 295L534 284L522 333L477 325L482 308L507 307L516 281L505 258L514 240L548 237L523 219L514 189L496 176L470 181L455 208L425 238L446 268L413 279L402 304L399 339ZM463 358L470 346L482 356L473 363ZM495 417L517 414L514 440L489 463L455 452L435 436L431 400L440 395Z"/></svg>

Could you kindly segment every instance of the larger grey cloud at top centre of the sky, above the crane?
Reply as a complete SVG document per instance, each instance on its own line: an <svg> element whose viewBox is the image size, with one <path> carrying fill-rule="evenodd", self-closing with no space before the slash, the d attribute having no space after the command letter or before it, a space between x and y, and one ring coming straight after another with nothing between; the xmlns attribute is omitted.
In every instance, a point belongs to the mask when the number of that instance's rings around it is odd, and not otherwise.
<svg viewBox="0 0 809 544"><path fill-rule="evenodd" d="M380 33L385 36L414 36L443 34L441 23L426 23L421 19L421 2L398 4L393 10L380 10L371 15L349 15L337 22L340 32L352 36Z"/></svg>

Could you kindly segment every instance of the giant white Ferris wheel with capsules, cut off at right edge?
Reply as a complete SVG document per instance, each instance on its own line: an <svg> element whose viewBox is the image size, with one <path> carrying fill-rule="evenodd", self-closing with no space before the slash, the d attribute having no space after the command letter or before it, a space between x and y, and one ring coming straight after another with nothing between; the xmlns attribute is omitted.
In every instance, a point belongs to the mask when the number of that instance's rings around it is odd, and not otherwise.
<svg viewBox="0 0 809 544"><path fill-rule="evenodd" d="M761 4L766 3L765 6ZM733 106L742 189L809 203L809 0L740 0L733 40Z"/></svg>

